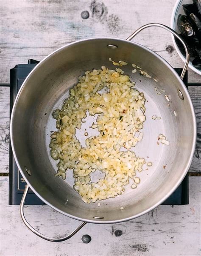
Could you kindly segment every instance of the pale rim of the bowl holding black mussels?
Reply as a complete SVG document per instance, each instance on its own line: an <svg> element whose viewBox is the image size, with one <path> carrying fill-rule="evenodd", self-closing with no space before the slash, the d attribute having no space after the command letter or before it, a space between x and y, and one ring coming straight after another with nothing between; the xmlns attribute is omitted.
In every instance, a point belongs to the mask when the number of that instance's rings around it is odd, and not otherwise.
<svg viewBox="0 0 201 256"><path fill-rule="evenodd" d="M178 9L179 7L181 6L181 3L183 2L183 0L177 0L175 5L174 5L174 8L173 8L173 12L172 12L172 17L171 17L171 24L170 24L170 27L174 30L175 30L175 17L176 17L176 14L178 12ZM175 41L175 37L173 35L172 36L172 40L173 40L173 44L174 44L174 47L176 49L176 51L178 52L181 60L183 60L185 62L185 58L184 58L184 55L181 53L179 47L177 46L176 44L176 41ZM189 68L192 69L194 72L196 72L198 75L201 75L201 71L196 69L193 64L191 62L189 62L188 64Z"/></svg>

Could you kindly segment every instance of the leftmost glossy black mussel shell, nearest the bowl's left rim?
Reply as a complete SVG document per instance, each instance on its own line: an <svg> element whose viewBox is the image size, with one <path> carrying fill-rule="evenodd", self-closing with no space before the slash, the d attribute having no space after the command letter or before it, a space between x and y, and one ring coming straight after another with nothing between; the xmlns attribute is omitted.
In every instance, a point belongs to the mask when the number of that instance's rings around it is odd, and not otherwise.
<svg viewBox="0 0 201 256"><path fill-rule="evenodd" d="M195 35L193 27L187 16L179 14L177 19L177 26L182 35L186 37L191 37Z"/></svg>

